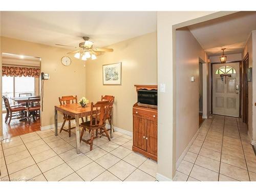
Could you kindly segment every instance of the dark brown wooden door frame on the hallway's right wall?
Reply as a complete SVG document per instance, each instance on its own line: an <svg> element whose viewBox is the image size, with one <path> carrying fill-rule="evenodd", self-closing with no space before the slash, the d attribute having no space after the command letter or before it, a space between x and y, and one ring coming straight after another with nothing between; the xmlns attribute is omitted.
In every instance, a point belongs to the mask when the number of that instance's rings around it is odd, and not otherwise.
<svg viewBox="0 0 256 192"><path fill-rule="evenodd" d="M248 65L245 62L248 61ZM248 126L248 81L247 81L247 69L249 68L249 53L243 58L243 122Z"/></svg>

